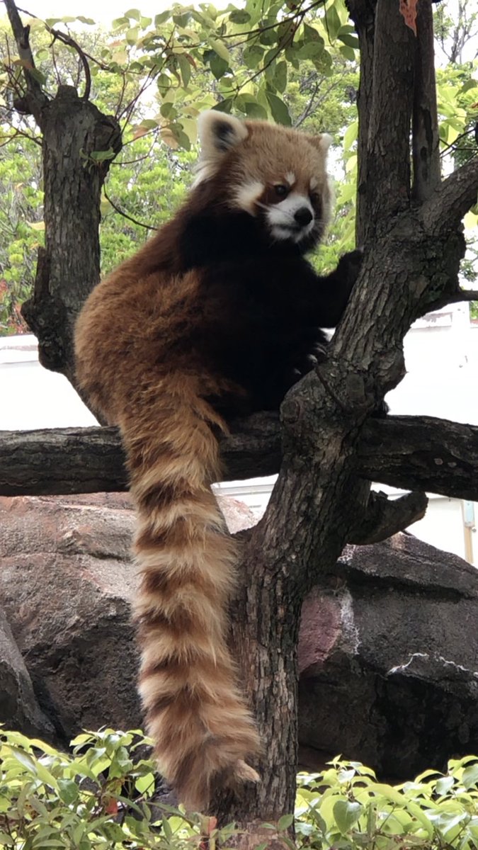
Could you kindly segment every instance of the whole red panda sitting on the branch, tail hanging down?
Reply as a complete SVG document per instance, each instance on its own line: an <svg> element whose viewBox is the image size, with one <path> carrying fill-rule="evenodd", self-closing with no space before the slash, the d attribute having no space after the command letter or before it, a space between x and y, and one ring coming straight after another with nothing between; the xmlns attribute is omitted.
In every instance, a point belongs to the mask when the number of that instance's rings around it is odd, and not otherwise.
<svg viewBox="0 0 478 850"><path fill-rule="evenodd" d="M121 429L138 526L139 692L161 773L186 808L259 779L259 737L227 646L235 549L210 485L217 433L277 409L339 322L360 266L304 252L330 215L329 137L219 111L184 206L88 297L77 378Z"/></svg>

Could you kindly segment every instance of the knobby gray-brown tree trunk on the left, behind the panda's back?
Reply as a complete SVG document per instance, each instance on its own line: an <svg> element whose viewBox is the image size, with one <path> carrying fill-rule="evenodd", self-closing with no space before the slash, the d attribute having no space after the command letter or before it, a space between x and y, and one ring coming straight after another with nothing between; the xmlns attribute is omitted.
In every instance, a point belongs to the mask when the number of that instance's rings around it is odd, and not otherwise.
<svg viewBox="0 0 478 850"><path fill-rule="evenodd" d="M60 85L53 99L31 71L35 63L14 0L5 0L9 22L24 65L25 92L14 105L34 116L42 131L45 247L38 251L32 297L22 314L38 338L40 362L75 385L73 326L88 293L100 280L101 188L111 159L95 161L94 151L121 150L121 129L73 86ZM88 65L83 63L83 67Z"/></svg>

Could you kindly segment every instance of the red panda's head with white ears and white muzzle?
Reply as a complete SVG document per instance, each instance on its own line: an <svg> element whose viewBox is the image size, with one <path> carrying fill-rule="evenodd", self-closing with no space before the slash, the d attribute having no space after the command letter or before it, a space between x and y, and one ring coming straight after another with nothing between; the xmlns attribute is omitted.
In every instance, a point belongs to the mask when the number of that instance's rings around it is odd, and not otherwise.
<svg viewBox="0 0 478 850"><path fill-rule="evenodd" d="M234 210L257 218L273 241L310 248L330 218L330 136L309 136L223 112L198 119L201 159L196 184L208 182Z"/></svg>

